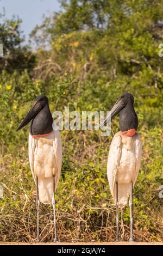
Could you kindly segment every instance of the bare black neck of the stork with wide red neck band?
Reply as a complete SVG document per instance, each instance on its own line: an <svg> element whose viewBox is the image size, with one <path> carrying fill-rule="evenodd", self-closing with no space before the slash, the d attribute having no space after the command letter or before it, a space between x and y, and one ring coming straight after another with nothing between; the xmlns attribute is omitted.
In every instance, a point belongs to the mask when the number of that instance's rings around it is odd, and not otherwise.
<svg viewBox="0 0 163 256"><path fill-rule="evenodd" d="M120 129L122 132L130 129L137 130L138 119L135 112L133 102L128 101L127 105L122 109L120 114Z"/></svg>

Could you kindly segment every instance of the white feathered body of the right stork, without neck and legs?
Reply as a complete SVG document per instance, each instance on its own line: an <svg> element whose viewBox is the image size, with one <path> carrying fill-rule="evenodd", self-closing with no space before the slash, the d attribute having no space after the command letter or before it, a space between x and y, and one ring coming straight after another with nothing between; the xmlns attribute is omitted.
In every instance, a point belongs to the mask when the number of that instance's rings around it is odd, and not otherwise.
<svg viewBox="0 0 163 256"><path fill-rule="evenodd" d="M128 202L130 184L135 185L141 162L141 138L117 132L112 139L108 156L107 175L110 191L116 202L116 182L118 182L118 204L122 208Z"/></svg>

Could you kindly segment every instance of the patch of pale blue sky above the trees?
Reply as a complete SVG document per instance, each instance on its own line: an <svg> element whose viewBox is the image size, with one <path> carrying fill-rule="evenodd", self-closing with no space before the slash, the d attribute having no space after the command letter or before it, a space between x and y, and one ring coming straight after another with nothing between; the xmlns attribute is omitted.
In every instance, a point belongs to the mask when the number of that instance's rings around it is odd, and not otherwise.
<svg viewBox="0 0 163 256"><path fill-rule="evenodd" d="M7 18L18 15L23 20L21 28L28 41L32 29L41 24L42 15L59 10L59 3L57 0L1 0L0 13L3 7Z"/></svg>

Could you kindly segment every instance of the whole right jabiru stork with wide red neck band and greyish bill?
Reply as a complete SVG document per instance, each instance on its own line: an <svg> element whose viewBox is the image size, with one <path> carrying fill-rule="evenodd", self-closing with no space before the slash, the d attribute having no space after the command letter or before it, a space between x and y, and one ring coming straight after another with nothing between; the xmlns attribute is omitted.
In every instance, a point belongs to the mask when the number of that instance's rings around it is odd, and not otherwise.
<svg viewBox="0 0 163 256"><path fill-rule="evenodd" d="M121 113L120 113L121 112ZM110 116L104 120L101 128L111 118L120 113L120 131L112 139L107 164L107 176L110 191L116 204L116 241L118 235L118 208L128 202L130 207L130 242L133 242L133 187L135 185L141 162L141 138L136 133L138 118L134 109L134 97L123 93L111 109Z"/></svg>

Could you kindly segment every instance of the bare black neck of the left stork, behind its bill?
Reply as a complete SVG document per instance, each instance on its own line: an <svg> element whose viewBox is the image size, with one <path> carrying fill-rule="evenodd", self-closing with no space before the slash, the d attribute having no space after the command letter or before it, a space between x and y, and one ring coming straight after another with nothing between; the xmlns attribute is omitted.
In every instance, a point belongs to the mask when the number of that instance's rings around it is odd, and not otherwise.
<svg viewBox="0 0 163 256"><path fill-rule="evenodd" d="M48 104L36 115L30 125L32 135L43 135L52 132L53 118Z"/></svg>

